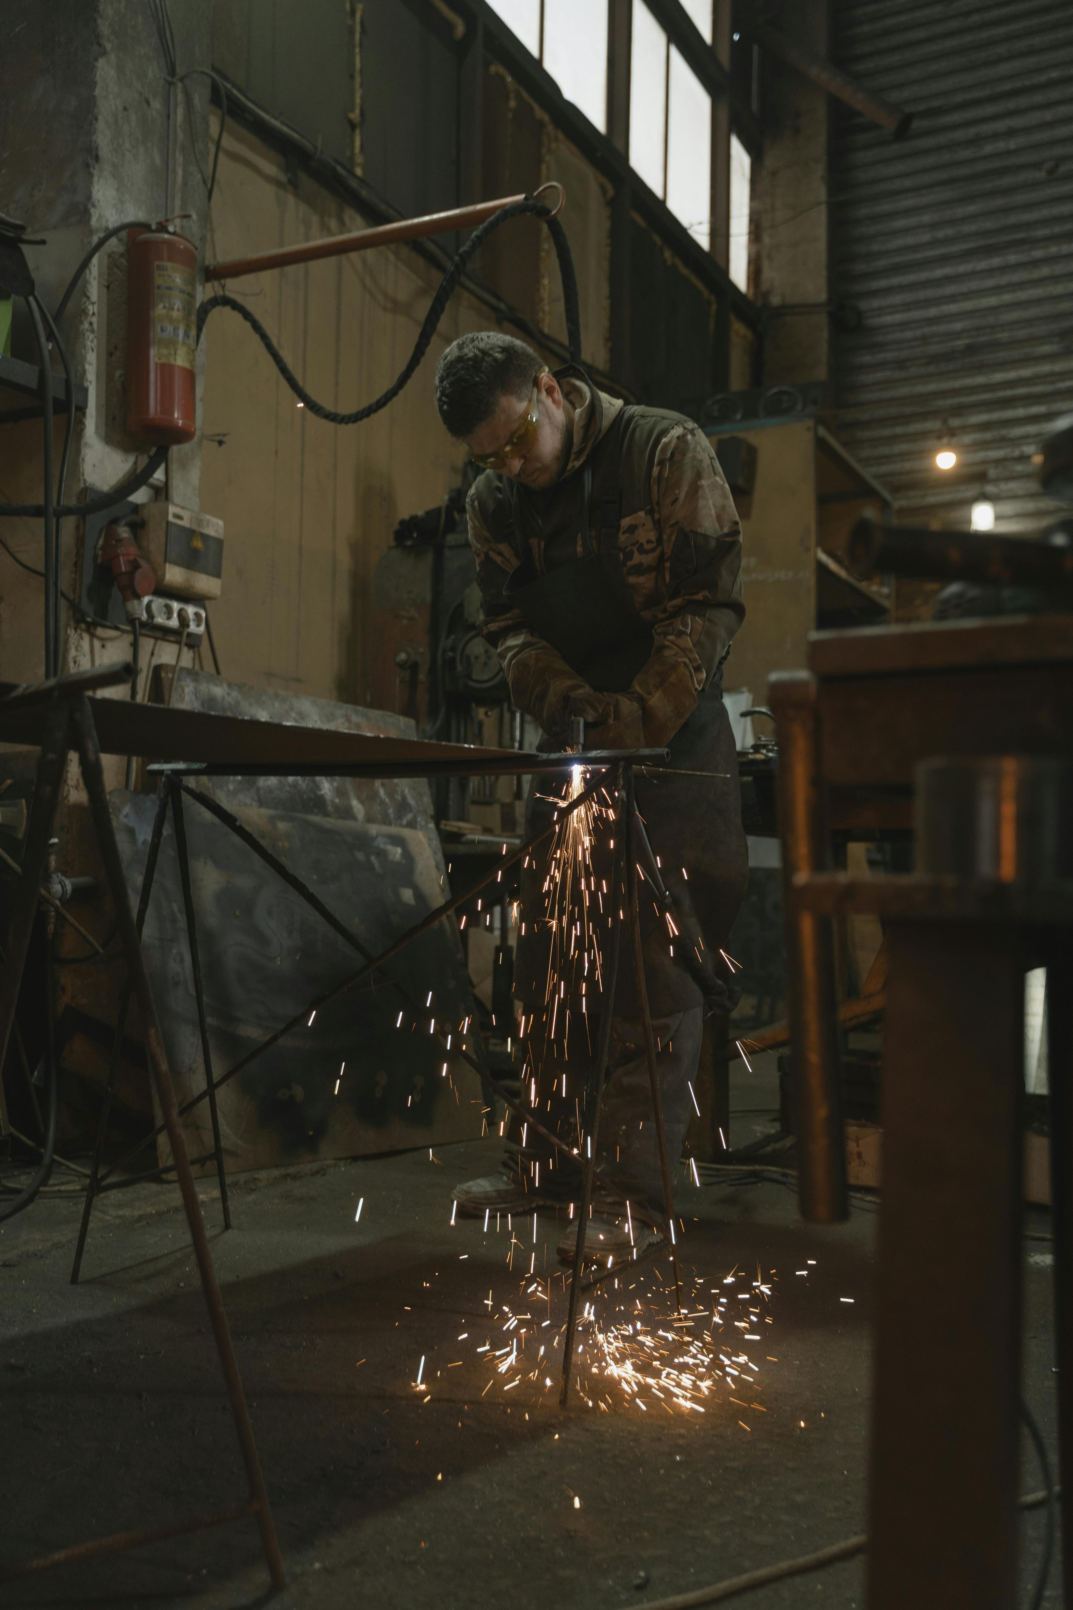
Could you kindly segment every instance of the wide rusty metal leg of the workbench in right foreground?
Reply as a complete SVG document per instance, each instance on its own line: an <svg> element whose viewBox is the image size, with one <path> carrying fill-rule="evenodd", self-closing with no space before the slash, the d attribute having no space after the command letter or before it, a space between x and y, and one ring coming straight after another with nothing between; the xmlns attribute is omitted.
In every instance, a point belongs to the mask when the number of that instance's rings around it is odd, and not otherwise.
<svg viewBox="0 0 1073 1610"><path fill-rule="evenodd" d="M1013 1610L1025 956L890 926L869 1610Z"/></svg>

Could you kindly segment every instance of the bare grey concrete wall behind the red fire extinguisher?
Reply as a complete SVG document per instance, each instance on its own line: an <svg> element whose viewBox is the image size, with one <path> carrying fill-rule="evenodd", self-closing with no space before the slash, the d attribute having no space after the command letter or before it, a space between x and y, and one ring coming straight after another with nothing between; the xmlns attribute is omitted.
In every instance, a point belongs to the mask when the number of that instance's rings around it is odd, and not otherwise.
<svg viewBox="0 0 1073 1610"><path fill-rule="evenodd" d="M179 72L209 64L211 0L172 0ZM55 309L90 243L125 219L164 216L167 85L164 56L150 10L134 0L10 0L0 64L0 195L3 211L42 240L26 256L42 301ZM208 85L190 80L190 113L179 97L175 140L180 229L201 248L204 238ZM125 364L125 261L119 237L90 266L63 320L76 378L88 386L68 475L68 497L80 486L100 489L135 469L138 449L122 430ZM37 362L29 324L19 309L14 356ZM60 370L53 354L53 369ZM63 422L56 420L56 460ZM171 457L169 496L198 504L199 441ZM6 427L0 435L0 493L11 502L40 501L40 425ZM164 488L161 488L164 489ZM143 496L153 496L151 491ZM40 568L42 526L5 520L0 536L27 565ZM80 535L66 522L63 588L77 596ZM34 681L43 663L43 594L37 576L0 552L0 678ZM64 605L61 668L116 658L125 639L85 628Z"/></svg>

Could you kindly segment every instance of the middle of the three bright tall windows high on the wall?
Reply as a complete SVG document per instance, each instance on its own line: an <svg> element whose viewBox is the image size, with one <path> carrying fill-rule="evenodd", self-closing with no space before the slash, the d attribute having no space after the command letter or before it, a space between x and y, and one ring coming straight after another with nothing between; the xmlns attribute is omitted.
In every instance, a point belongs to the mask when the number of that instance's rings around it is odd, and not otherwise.
<svg viewBox="0 0 1073 1610"><path fill-rule="evenodd" d="M693 0L692 14L703 10ZM711 6L708 5L708 10ZM709 18L711 21L711 18ZM634 0L629 161L693 240L711 240L711 95L668 42L645 0Z"/></svg>

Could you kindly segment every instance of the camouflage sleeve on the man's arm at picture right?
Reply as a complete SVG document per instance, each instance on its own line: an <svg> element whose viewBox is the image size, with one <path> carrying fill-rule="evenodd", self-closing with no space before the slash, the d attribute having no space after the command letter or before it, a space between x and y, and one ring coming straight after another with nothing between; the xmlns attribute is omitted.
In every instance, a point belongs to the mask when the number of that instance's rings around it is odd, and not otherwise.
<svg viewBox="0 0 1073 1610"><path fill-rule="evenodd" d="M652 517L656 575L650 583L656 586L643 615L656 641L631 692L640 700L645 742L661 745L695 710L745 618L742 526L719 460L697 425L674 425L660 443Z"/></svg>

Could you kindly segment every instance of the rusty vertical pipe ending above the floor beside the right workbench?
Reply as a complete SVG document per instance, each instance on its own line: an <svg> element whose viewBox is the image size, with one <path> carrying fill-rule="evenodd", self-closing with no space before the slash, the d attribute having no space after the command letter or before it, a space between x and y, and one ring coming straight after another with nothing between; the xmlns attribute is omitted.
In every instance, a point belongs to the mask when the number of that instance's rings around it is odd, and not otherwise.
<svg viewBox="0 0 1073 1610"><path fill-rule="evenodd" d="M830 918L800 911L796 873L824 871L827 832L819 782L817 684L809 671L777 671L769 684L779 739L779 832L787 935L787 995L798 1125L798 1201L809 1224L848 1217L846 1140L835 1037Z"/></svg>

